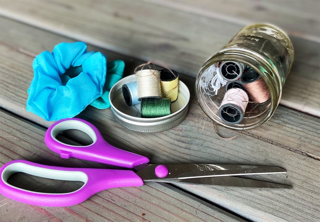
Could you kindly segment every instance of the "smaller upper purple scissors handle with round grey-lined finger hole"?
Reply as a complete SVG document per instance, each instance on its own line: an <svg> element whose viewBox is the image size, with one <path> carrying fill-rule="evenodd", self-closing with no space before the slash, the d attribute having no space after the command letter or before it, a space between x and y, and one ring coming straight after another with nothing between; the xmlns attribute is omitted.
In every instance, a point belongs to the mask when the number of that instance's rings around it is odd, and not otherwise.
<svg viewBox="0 0 320 222"><path fill-rule="evenodd" d="M73 146L56 139L60 132L71 129L85 132L91 137L93 143L88 146ZM145 156L110 145L93 124L78 118L68 118L53 123L46 131L44 141L49 149L60 154L62 158L74 157L126 168L149 162Z"/></svg>

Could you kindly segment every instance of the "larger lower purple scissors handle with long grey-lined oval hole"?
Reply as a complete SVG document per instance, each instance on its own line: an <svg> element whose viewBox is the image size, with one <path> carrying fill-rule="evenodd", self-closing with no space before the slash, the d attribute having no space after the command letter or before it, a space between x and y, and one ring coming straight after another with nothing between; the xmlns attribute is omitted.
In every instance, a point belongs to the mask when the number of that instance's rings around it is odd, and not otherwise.
<svg viewBox="0 0 320 222"><path fill-rule="evenodd" d="M8 178L17 172L50 179L82 181L84 185L76 191L62 194L28 191L7 182ZM4 164L0 168L0 175L2 195L23 203L52 207L75 205L109 188L143 185L142 179L131 170L65 168L46 166L26 160L15 160Z"/></svg>

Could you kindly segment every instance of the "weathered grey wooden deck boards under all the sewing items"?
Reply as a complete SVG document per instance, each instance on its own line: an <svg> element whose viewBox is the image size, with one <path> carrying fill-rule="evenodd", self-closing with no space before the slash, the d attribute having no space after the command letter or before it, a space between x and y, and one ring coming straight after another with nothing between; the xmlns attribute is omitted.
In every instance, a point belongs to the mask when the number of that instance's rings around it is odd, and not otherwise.
<svg viewBox="0 0 320 222"><path fill-rule="evenodd" d="M71 207L39 207L0 195L0 221L319 221L320 1L42 1L0 0L0 164L26 159L47 165L108 168L61 159L44 143L52 122L26 111L34 57L60 42L83 41L89 51L122 59L125 75L154 61L182 75L190 93L186 119L171 130L139 133L120 126L111 110L80 115L116 147L150 163L279 166L287 175L261 180L290 190L169 185L113 188ZM204 61L244 25L268 22L292 40L295 58L274 116L259 128L221 139L194 95ZM238 132L219 127L223 135ZM70 138L69 138L70 139ZM72 139L72 138L71 138ZM256 177L258 178L258 177ZM16 181L50 187L31 178ZM53 186L53 185L52 185Z"/></svg>

